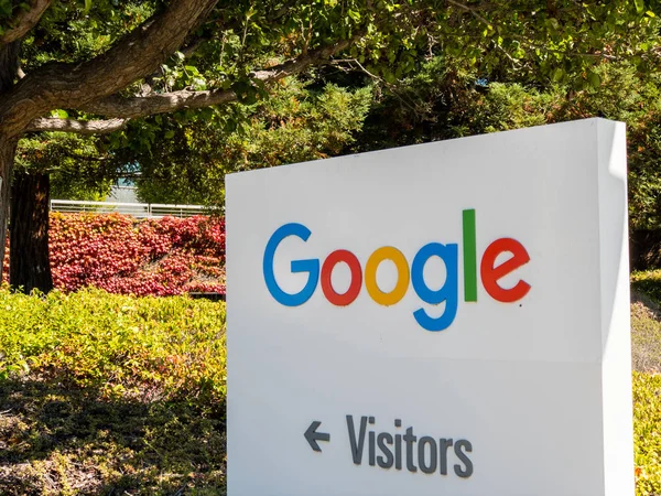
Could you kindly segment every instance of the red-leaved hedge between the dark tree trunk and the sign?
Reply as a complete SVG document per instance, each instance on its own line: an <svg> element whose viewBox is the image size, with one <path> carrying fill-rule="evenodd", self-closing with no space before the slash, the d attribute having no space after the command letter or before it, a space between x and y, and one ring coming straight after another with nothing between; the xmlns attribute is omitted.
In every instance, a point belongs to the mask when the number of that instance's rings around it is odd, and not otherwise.
<svg viewBox="0 0 661 496"><path fill-rule="evenodd" d="M51 214L55 288L111 293L225 293L225 220L119 214Z"/></svg>

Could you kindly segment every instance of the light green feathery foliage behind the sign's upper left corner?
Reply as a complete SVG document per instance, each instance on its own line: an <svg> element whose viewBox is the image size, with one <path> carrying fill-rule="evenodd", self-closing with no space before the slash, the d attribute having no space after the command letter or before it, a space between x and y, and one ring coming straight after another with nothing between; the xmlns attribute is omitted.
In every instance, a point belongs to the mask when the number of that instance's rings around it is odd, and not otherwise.
<svg viewBox="0 0 661 496"><path fill-rule="evenodd" d="M354 142L370 101L369 87L350 91L328 84L315 89L288 78L271 98L253 106L236 104L230 116L145 120L139 125L143 129L154 122L164 130L154 131L158 145L142 152L124 149L118 157L140 163L137 185L144 202L221 206L226 173L342 153Z"/></svg>

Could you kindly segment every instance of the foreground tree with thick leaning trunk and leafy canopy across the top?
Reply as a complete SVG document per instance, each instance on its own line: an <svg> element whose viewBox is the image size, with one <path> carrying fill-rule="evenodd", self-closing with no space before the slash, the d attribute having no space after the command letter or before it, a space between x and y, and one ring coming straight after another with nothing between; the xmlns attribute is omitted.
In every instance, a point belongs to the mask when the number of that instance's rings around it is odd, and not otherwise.
<svg viewBox="0 0 661 496"><path fill-rule="evenodd" d="M107 133L150 115L251 104L340 52L388 84L440 52L489 77L576 85L598 84L590 67L605 58L657 63L655 3L642 0L217 3L0 3L0 258L25 132Z"/></svg>

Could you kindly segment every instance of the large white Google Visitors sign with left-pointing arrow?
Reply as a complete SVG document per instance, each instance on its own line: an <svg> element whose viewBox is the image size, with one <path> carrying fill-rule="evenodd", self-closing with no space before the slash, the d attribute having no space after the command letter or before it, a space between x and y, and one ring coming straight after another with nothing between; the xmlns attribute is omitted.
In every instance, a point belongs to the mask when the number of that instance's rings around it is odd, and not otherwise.
<svg viewBox="0 0 661 496"><path fill-rule="evenodd" d="M228 494L629 496L625 126L227 177Z"/></svg>

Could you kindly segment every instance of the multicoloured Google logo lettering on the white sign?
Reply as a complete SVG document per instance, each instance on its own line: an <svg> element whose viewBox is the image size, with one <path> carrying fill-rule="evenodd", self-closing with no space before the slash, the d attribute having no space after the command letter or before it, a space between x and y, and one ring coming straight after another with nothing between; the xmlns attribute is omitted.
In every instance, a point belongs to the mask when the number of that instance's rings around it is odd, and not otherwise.
<svg viewBox="0 0 661 496"><path fill-rule="evenodd" d="M291 271L293 273L307 273L307 281L297 293L291 294L283 291L275 281L273 272L273 257L279 245L289 236L295 236L307 241L312 231L302 224L291 223L275 229L271 235L263 257L263 274L267 288L273 299L285 306L297 306L305 303L315 292L317 285L326 300L337 306L350 305L362 287L369 296L378 304L390 306L401 301L409 285L424 303L437 305L445 303L443 315L433 317L424 309L413 312L415 321L426 331L443 331L455 320L458 305L458 265L459 249L457 244L430 242L418 250L413 261L409 261L404 255L392 246L377 248L367 259L365 269L358 257L346 249L337 249L330 252L323 261L316 258L305 260L292 260ZM509 254L509 258L496 265L502 254ZM423 277L426 262L432 257L438 257L445 265L446 277L440 289L430 288ZM382 291L377 283L377 269L381 262L390 260L397 269L397 283L388 292ZM475 209L463 212L463 266L464 266L464 301L477 302L477 249ZM479 279L486 292L496 301L513 303L521 300L530 291L530 284L519 280L512 288L503 288L499 281L530 261L528 251L519 241L512 238L499 238L492 241L481 254L479 263ZM349 288L344 293L338 293L333 288L330 277L338 263L346 263L350 271Z"/></svg>

